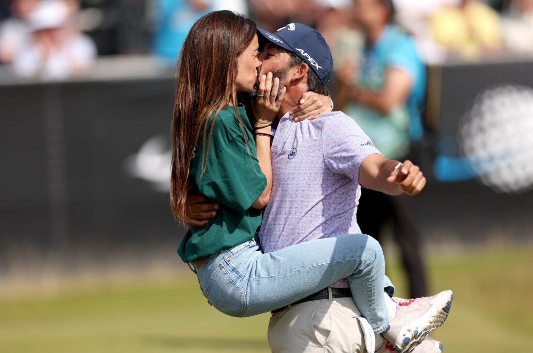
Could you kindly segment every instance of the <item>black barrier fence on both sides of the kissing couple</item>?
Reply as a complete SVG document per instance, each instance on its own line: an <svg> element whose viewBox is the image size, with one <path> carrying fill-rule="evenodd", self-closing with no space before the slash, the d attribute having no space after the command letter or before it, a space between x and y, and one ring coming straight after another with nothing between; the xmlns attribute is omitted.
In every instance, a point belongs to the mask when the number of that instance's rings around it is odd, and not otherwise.
<svg viewBox="0 0 533 353"><path fill-rule="evenodd" d="M477 181L431 178L435 144L454 136L480 90L533 85L533 62L430 69L423 149L426 190L417 196L427 236L531 237L533 193L500 194ZM437 74L435 74L437 73ZM157 244L184 234L168 200L174 78L0 86L0 246L33 242Z"/></svg>

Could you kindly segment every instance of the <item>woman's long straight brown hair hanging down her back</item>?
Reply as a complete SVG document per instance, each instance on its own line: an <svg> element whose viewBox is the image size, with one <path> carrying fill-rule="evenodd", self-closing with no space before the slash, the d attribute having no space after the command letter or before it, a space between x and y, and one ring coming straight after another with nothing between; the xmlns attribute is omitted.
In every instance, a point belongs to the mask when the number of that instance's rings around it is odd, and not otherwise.
<svg viewBox="0 0 533 353"><path fill-rule="evenodd" d="M185 38L177 64L172 116L170 198L176 220L183 220L185 216L189 169L198 139L202 139L202 150L196 153L203 156L204 173L216 116L237 99L233 87L238 56L252 42L256 31L255 22L243 15L214 11L196 21ZM209 129L207 125L213 112L215 116ZM243 128L240 116L237 117Z"/></svg>

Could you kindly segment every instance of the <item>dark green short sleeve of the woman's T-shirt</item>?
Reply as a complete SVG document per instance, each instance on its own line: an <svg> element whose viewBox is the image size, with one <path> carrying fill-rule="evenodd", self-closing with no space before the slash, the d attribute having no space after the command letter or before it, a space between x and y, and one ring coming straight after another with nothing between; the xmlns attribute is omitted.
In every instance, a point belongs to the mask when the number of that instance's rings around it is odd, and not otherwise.
<svg viewBox="0 0 533 353"><path fill-rule="evenodd" d="M200 195L239 212L248 210L266 187L254 140L248 139L247 146L238 134L227 143L211 144L206 170L195 177Z"/></svg>

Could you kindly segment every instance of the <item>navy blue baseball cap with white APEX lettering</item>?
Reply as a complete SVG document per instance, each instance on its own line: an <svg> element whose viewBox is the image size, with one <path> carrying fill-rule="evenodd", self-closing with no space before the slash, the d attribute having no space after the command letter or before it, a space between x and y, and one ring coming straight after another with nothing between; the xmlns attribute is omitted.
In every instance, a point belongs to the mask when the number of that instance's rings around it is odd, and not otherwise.
<svg viewBox="0 0 533 353"><path fill-rule="evenodd" d="M323 84L328 82L333 72L332 53L326 39L316 29L302 23L289 23L275 33L261 28L257 28L257 31L268 41L296 53L317 74Z"/></svg>

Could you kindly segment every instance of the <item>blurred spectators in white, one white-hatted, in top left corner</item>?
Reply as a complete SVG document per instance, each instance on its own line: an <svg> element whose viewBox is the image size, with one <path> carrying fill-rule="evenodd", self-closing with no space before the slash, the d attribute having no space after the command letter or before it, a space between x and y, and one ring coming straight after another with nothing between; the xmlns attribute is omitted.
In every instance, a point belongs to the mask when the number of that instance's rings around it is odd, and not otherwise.
<svg viewBox="0 0 533 353"><path fill-rule="evenodd" d="M15 75L52 80L88 73L96 46L77 28L76 0L13 0L9 5L9 17L0 26L0 61Z"/></svg>

